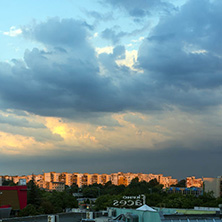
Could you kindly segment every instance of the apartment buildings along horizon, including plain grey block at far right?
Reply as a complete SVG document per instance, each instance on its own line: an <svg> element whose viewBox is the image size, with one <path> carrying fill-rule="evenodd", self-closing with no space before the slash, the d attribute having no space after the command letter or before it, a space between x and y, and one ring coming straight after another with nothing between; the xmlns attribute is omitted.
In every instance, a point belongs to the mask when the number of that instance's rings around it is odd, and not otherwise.
<svg viewBox="0 0 222 222"><path fill-rule="evenodd" d="M15 184L25 185L32 178L35 183L46 190L62 191L65 189L65 185L71 186L73 183L79 187L84 185L91 185L94 183L102 184L111 181L115 185L129 185L130 182L138 177L139 181L149 182L152 179L156 179L163 188L170 188L172 185L178 183L177 179L173 179L171 176L165 177L163 174L142 174L142 173L112 173L112 174L89 174L89 173L56 173L49 172L38 175L27 176L0 176L0 186L4 180L12 180ZM215 197L222 196L222 177L217 178L186 178L186 188L203 188L205 192L213 192ZM176 188L175 188L176 189ZM186 190L187 191L187 190ZM190 190L188 190L190 192ZM198 190L199 191L199 190ZM183 191L184 192L184 191Z"/></svg>

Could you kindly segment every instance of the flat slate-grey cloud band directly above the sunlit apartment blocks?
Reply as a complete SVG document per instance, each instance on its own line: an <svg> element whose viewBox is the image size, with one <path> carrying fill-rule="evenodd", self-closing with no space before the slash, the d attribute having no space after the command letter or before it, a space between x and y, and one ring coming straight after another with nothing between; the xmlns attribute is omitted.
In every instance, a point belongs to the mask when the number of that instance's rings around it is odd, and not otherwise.
<svg viewBox="0 0 222 222"><path fill-rule="evenodd" d="M46 156L1 155L1 170L5 174L31 174L45 172L79 173L154 173L183 179L187 176L216 177L221 175L222 151L220 147L200 150L185 147L166 148L164 150L112 150L103 152L67 152L53 151ZM10 163L10 164L9 164ZM61 165L58 163L62 163ZM24 164L26 170L24 171ZM103 166L101 168L101 166ZM16 169L16 170L15 170Z"/></svg>

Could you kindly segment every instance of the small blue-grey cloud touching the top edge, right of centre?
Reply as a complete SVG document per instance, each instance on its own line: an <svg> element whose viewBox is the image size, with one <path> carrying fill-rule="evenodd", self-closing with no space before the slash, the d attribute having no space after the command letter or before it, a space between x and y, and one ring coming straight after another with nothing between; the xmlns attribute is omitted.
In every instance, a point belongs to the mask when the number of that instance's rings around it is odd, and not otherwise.
<svg viewBox="0 0 222 222"><path fill-rule="evenodd" d="M106 0L105 2L115 8L123 8L130 16L135 18L143 18L158 11L169 13L171 10L175 9L173 5L162 0Z"/></svg>

